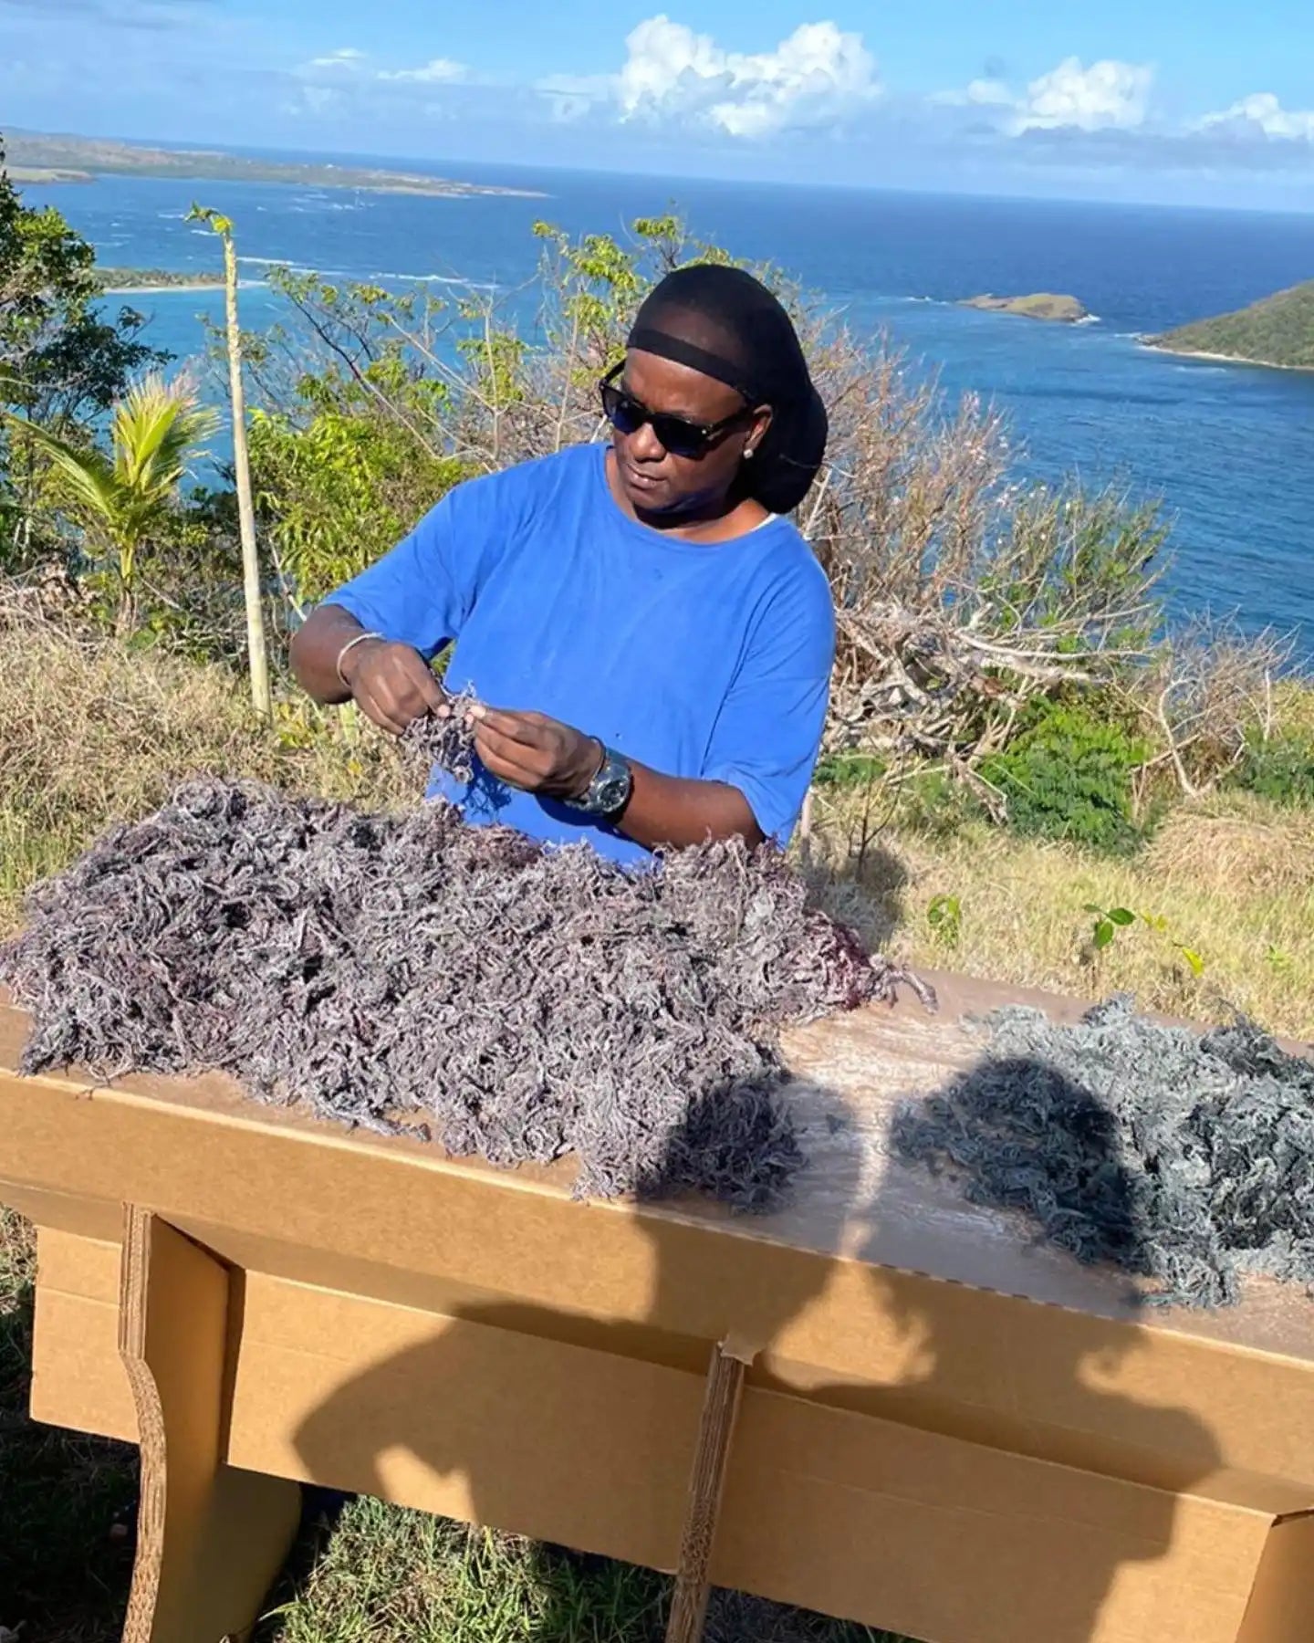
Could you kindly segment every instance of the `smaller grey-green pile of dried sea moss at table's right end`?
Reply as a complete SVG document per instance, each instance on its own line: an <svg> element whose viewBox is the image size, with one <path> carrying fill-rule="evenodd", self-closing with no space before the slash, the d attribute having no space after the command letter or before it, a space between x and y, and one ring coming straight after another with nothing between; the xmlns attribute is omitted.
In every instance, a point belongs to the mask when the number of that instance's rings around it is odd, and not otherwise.
<svg viewBox="0 0 1314 1643"><path fill-rule="evenodd" d="M1081 1260L1188 1306L1260 1273L1314 1283L1314 1061L1247 1024L1199 1035L1127 997L1061 1027L990 1017L981 1063L907 1104L897 1152L1022 1209Z"/></svg>

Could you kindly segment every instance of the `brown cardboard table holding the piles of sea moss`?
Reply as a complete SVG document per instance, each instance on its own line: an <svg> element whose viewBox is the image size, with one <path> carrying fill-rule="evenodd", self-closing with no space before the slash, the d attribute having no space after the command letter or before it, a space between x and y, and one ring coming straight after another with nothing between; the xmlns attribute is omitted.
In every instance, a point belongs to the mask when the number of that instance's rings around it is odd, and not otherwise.
<svg viewBox="0 0 1314 1643"><path fill-rule="evenodd" d="M718 1584L926 1643L1309 1643L1314 1303L1255 1285L1146 1313L894 1167L894 1102L971 1065L964 1014L1018 997L940 986L940 1017L792 1040L825 1093L797 1201L765 1219L575 1203L567 1167L499 1173L220 1079L20 1079L0 1007L0 1201L39 1227L33 1415L174 1452L214 1428L214 1477L166 1492L166 1523L214 1530L223 1490L304 1479L672 1569L708 1352L733 1339L754 1364ZM194 1296L207 1323L181 1331ZM251 1589L286 1539L281 1497L260 1510ZM212 1579L212 1538L179 1530L156 1613Z"/></svg>

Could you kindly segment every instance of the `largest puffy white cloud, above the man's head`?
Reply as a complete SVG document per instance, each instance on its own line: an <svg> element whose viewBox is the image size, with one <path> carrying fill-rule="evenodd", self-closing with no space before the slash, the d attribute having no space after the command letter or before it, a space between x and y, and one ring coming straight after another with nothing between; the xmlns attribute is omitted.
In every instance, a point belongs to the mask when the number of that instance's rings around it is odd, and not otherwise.
<svg viewBox="0 0 1314 1643"><path fill-rule="evenodd" d="M742 53L665 15L629 35L614 82L624 118L696 120L741 138L838 122L879 90L862 36L834 23L803 23L774 51Z"/></svg>

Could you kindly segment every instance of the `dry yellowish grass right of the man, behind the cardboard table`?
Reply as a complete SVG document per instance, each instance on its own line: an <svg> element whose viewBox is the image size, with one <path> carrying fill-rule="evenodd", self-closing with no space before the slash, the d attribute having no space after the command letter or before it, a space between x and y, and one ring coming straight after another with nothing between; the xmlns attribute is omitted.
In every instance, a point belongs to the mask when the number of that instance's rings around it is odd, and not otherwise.
<svg viewBox="0 0 1314 1643"><path fill-rule="evenodd" d="M816 858L834 910L915 964L1077 997L1135 992L1202 1020L1240 1010L1273 1032L1314 1032L1314 812L1250 794L1174 810L1148 848L1100 858L986 823L943 836L892 823L857 864L864 800L816 805ZM959 918L933 925L938 897ZM1087 904L1138 915L1096 951ZM1163 922L1160 925L1160 920ZM1197 976L1183 953L1202 960Z"/></svg>

